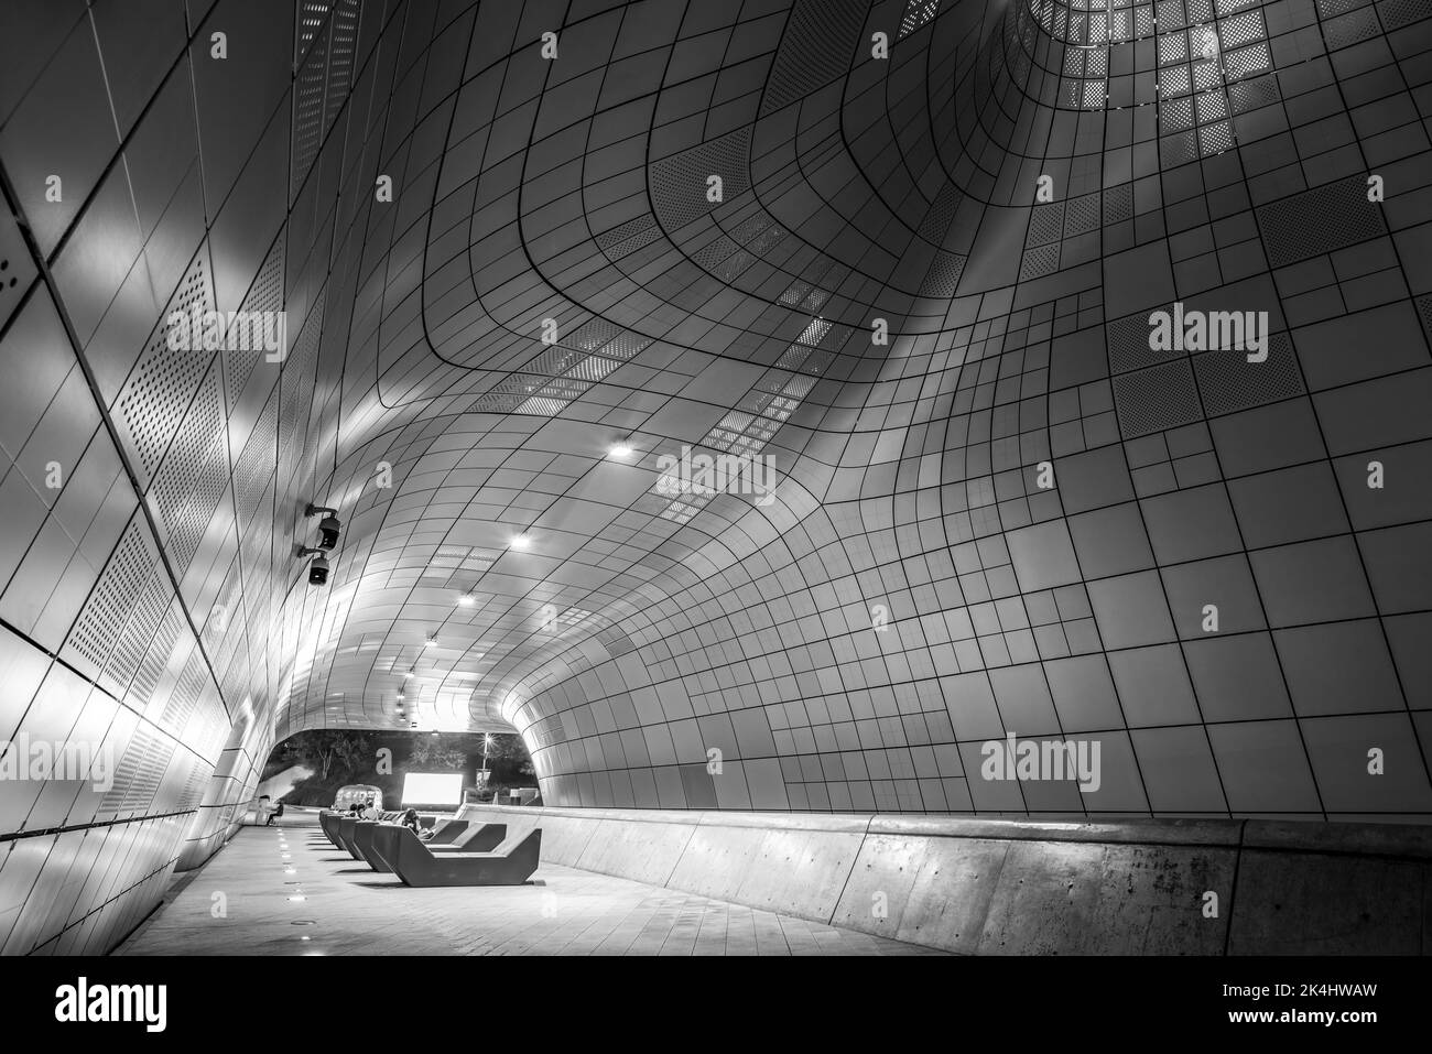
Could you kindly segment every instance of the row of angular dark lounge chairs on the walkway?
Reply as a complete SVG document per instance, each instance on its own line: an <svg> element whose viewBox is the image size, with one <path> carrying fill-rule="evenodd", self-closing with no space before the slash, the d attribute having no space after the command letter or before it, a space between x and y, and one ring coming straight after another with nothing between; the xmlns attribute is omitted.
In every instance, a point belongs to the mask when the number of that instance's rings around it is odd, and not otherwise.
<svg viewBox="0 0 1432 1054"><path fill-rule="evenodd" d="M448 819L432 828L427 842L388 819L322 812L318 823L328 841L355 861L411 886L521 885L537 871L541 855L541 829L508 838L505 823Z"/></svg>

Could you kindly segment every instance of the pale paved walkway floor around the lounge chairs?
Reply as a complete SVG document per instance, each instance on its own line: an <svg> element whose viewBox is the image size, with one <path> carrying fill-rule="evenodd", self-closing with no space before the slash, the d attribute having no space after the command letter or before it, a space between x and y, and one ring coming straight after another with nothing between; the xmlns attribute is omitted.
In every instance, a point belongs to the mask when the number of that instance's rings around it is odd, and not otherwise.
<svg viewBox="0 0 1432 1054"><path fill-rule="evenodd" d="M556 864L523 886L410 889L335 849L312 816L298 815L279 829L243 828L203 868L182 875L115 954L942 952Z"/></svg>

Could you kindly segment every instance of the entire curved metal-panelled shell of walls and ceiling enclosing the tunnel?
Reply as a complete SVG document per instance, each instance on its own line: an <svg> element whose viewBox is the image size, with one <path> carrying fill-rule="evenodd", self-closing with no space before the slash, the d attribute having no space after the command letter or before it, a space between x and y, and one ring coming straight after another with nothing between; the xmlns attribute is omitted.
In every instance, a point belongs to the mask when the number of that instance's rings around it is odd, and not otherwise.
<svg viewBox="0 0 1432 1054"><path fill-rule="evenodd" d="M516 727L550 805L1428 819L1429 116L1422 0L0 6L0 736L116 765L3 788L0 947L112 945L318 726Z"/></svg>

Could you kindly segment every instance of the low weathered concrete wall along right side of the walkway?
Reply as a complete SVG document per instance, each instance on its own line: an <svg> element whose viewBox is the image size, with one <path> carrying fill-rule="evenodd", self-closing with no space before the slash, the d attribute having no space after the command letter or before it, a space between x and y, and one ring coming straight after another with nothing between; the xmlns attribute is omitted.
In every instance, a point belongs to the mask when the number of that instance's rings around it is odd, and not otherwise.
<svg viewBox="0 0 1432 1054"><path fill-rule="evenodd" d="M1432 948L1423 826L465 812L508 835L541 826L546 862L972 955Z"/></svg>

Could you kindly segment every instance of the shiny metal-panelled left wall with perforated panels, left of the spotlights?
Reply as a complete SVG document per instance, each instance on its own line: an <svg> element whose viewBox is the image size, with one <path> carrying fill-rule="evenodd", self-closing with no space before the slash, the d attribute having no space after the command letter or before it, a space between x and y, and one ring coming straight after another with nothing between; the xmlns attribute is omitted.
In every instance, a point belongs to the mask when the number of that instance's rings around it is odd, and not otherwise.
<svg viewBox="0 0 1432 1054"><path fill-rule="evenodd" d="M288 0L0 11L6 954L106 951L222 843L274 743L314 355L172 351L163 321L322 325L326 252L285 256L294 27ZM54 743L89 768L24 778Z"/></svg>

